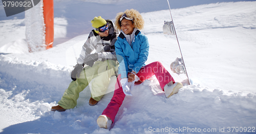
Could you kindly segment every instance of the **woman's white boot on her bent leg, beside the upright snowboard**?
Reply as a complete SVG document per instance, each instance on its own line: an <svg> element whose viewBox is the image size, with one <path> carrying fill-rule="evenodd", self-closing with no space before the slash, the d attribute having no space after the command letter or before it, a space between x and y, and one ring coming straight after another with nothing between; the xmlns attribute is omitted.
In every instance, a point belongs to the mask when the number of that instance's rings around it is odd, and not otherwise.
<svg viewBox="0 0 256 134"><path fill-rule="evenodd" d="M169 98L174 94L177 94L179 89L182 87L182 83L173 84L173 82L169 82L168 84L166 84L163 88L166 98Z"/></svg>

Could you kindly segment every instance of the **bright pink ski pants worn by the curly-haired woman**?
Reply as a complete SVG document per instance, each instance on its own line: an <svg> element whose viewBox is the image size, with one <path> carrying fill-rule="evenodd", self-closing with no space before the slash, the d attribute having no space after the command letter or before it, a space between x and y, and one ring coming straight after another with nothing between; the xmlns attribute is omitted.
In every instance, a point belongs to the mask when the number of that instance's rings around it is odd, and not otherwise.
<svg viewBox="0 0 256 134"><path fill-rule="evenodd" d="M152 77L153 75L156 75L162 89L170 81L173 81L173 83L175 83L174 78L169 74L169 72L163 67L160 62L153 62L142 67L136 75L140 78L140 82L144 82L146 79ZM125 97L120 83L120 77L121 74L119 74L117 77L114 95L110 103L102 113L102 115L111 118L112 122L115 121L116 114L120 106L122 105L123 99Z"/></svg>

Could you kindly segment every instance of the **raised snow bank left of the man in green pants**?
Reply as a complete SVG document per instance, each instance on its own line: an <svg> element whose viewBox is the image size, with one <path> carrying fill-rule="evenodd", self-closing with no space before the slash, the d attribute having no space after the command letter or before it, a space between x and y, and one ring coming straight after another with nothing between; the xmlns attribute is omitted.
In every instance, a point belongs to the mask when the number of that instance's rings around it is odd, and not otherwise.
<svg viewBox="0 0 256 134"><path fill-rule="evenodd" d="M71 68L56 66L48 61L19 61L18 58L11 59L1 55L0 63L2 83L0 88L12 89L15 91L14 95L23 90L29 91L26 98L32 101L41 99L51 102L57 96L61 96L57 90L65 89L71 81L69 79Z"/></svg>

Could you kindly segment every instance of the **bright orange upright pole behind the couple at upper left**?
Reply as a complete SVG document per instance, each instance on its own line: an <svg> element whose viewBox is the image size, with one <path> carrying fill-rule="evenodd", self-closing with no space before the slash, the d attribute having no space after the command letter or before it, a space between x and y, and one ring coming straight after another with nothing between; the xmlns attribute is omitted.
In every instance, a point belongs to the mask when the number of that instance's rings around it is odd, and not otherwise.
<svg viewBox="0 0 256 134"><path fill-rule="evenodd" d="M54 38L54 10L53 0L44 0L44 19L46 24L46 49L52 48Z"/></svg>

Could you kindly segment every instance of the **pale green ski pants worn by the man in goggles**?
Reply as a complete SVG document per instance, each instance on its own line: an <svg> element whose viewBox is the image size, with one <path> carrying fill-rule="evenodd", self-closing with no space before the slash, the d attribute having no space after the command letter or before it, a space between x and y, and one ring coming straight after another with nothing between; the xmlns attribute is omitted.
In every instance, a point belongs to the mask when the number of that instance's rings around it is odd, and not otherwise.
<svg viewBox="0 0 256 134"><path fill-rule="evenodd" d="M80 77L76 81L72 81L64 92L58 104L63 109L73 109L77 104L79 93L92 82L91 97L99 101L105 94L110 83L110 77L118 71L118 62L113 60L96 61L92 67L84 67L80 73Z"/></svg>

